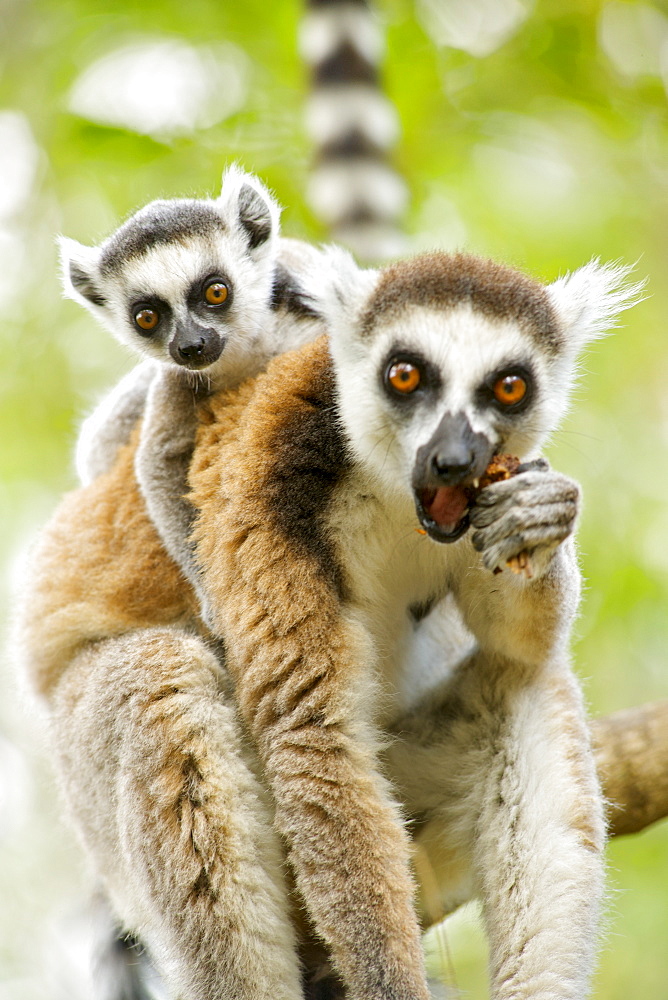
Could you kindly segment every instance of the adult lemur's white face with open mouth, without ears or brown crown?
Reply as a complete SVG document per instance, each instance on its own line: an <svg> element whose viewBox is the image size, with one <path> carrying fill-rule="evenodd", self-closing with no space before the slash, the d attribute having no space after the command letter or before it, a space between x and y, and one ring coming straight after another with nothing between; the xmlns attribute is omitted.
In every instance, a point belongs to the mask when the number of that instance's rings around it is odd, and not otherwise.
<svg viewBox="0 0 668 1000"><path fill-rule="evenodd" d="M468 527L470 487L492 455L525 456L547 430L550 370L516 324L411 307L383 334L376 404L423 527L451 542ZM547 407L549 409L549 406Z"/></svg>

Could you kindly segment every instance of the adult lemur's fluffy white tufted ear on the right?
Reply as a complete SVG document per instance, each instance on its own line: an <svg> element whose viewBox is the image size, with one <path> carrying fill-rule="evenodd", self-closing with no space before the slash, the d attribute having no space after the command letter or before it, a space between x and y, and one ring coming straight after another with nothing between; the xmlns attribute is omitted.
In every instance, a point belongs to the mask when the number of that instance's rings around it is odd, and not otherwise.
<svg viewBox="0 0 668 1000"><path fill-rule="evenodd" d="M548 285L547 293L574 351L602 337L618 316L645 297L644 281L632 282L632 266L592 260Z"/></svg>

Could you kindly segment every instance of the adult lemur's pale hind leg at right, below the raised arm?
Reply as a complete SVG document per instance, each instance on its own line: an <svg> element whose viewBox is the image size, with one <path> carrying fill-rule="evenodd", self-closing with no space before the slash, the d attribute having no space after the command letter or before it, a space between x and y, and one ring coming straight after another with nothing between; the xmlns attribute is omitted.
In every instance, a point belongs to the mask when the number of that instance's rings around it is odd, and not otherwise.
<svg viewBox="0 0 668 1000"><path fill-rule="evenodd" d="M440 702L393 730L388 771L419 820L425 915L438 919L479 896L494 1000L581 1000L605 831L574 678L557 667L528 678L517 663L478 652Z"/></svg>

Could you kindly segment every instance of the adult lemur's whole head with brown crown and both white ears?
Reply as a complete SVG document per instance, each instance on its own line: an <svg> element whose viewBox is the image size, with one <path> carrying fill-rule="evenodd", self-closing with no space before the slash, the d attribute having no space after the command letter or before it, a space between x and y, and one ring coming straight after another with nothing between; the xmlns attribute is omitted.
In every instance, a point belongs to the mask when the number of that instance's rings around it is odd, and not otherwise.
<svg viewBox="0 0 668 1000"><path fill-rule="evenodd" d="M578 351L637 294L615 290L625 273L590 265L548 288L432 254L339 282L328 318L351 447L433 539L464 534L492 455L529 458L556 428Z"/></svg>

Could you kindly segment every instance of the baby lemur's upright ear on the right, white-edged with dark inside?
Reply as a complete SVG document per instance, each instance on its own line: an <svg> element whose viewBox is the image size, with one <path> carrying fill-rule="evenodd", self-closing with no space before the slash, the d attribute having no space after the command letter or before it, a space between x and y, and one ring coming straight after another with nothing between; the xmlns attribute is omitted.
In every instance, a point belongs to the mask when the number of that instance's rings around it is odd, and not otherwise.
<svg viewBox="0 0 668 1000"><path fill-rule="evenodd" d="M257 177L236 164L228 167L216 206L228 225L241 233L252 256L271 253L281 210Z"/></svg>

